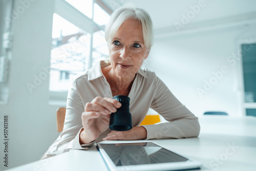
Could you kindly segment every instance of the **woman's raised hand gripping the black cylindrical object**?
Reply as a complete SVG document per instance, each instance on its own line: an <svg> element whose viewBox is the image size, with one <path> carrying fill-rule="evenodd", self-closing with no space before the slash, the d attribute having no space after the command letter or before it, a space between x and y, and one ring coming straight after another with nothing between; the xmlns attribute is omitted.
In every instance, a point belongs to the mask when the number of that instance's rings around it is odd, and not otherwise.
<svg viewBox="0 0 256 171"><path fill-rule="evenodd" d="M96 140L100 133L108 129L110 113L116 112L120 107L119 101L108 97L96 97L86 103L81 116L83 131L80 134L80 144Z"/></svg>

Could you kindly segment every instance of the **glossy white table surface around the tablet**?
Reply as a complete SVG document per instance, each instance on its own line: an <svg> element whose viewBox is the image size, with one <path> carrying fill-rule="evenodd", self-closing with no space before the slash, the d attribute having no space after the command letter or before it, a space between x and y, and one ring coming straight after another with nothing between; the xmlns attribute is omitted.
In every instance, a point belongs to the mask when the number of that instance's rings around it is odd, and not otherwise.
<svg viewBox="0 0 256 171"><path fill-rule="evenodd" d="M256 117L202 116L196 138L152 140L200 161L196 170L256 170ZM114 141L115 142L115 141ZM108 170L96 145L8 170Z"/></svg>

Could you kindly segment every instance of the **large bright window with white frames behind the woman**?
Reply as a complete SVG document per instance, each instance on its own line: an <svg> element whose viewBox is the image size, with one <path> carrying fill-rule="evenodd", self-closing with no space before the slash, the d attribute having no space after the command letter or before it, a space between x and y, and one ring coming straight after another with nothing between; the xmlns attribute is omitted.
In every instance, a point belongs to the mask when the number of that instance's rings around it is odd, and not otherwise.
<svg viewBox="0 0 256 171"><path fill-rule="evenodd" d="M67 94L71 79L108 57L104 26L110 15L93 0L61 1L57 10L53 15L49 90Z"/></svg>

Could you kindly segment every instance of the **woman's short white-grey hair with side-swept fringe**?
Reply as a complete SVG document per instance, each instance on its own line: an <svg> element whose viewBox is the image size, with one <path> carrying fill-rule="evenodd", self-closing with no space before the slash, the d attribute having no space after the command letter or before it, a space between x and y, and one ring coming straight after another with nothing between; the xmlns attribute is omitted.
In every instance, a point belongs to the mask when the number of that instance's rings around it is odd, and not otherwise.
<svg viewBox="0 0 256 171"><path fill-rule="evenodd" d="M105 39L110 42L115 36L119 27L127 19L137 19L141 22L144 45L150 50L153 46L153 24L150 15L133 4L127 4L118 8L111 15L110 22L105 27Z"/></svg>

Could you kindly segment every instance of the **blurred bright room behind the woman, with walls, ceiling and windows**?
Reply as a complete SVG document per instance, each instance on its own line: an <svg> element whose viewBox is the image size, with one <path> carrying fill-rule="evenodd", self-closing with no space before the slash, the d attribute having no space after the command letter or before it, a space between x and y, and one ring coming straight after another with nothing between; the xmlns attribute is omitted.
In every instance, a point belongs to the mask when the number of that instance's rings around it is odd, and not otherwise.
<svg viewBox="0 0 256 171"><path fill-rule="evenodd" d="M8 168L39 160L58 137L56 110L66 106L70 81L108 57L104 26L126 3L153 20L154 45L142 67L193 114L256 117L256 1L0 0Z"/></svg>

